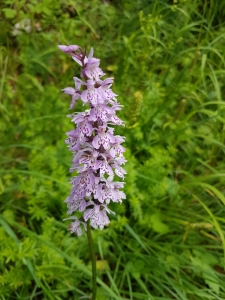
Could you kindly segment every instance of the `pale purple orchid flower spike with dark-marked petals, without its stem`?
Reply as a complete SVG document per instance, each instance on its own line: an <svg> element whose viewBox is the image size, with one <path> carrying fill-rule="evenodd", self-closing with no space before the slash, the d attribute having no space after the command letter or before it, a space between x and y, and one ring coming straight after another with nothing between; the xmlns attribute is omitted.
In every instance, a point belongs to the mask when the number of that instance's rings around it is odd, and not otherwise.
<svg viewBox="0 0 225 300"><path fill-rule="evenodd" d="M125 138L114 135L114 128L110 127L124 126L116 115L122 106L111 89L113 78L100 79L105 74L99 67L100 59L93 57L93 48L86 57L86 52L77 45L58 47L82 66L80 76L83 80L74 77L75 88L62 90L72 97L70 109L78 99L83 105L88 105L84 112L68 116L76 128L66 133L65 141L73 154L70 172L77 172L77 176L70 180L72 188L65 202L69 215L75 212L83 214L79 219L72 215L65 220L73 220L68 229L80 236L89 220L95 229L102 230L107 226L110 223L108 214L114 213L108 208L110 202L121 203L126 199L121 190L124 182L113 181L115 176L123 180L126 174L121 167L126 162L123 156L125 148L121 145Z"/></svg>

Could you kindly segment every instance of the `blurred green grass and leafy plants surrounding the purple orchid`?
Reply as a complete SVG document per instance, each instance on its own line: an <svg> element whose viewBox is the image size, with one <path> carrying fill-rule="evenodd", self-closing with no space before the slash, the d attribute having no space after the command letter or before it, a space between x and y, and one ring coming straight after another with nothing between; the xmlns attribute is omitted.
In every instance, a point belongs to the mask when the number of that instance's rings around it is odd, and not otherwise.
<svg viewBox="0 0 225 300"><path fill-rule="evenodd" d="M124 105L127 200L94 231L98 300L225 299L225 1L0 1L0 297L91 291L67 232L78 44ZM81 104L75 107L82 110Z"/></svg>

